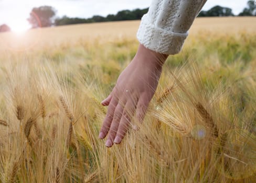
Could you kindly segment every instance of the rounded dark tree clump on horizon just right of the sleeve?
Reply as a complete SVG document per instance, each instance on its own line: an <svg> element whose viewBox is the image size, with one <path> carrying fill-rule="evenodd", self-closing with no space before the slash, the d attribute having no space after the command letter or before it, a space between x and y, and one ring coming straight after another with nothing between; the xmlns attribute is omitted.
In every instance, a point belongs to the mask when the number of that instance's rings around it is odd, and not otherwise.
<svg viewBox="0 0 256 183"><path fill-rule="evenodd" d="M199 17L227 17L234 16L231 8L214 6L208 11L201 11Z"/></svg>

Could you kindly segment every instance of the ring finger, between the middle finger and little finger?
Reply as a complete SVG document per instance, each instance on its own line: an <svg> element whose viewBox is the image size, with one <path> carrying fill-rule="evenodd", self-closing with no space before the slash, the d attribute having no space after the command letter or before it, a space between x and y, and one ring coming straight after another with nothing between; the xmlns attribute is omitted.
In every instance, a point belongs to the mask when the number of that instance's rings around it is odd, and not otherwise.
<svg viewBox="0 0 256 183"><path fill-rule="evenodd" d="M125 108L123 110L123 116L120 120L120 124L118 127L118 132L116 133L114 143L120 144L126 134L129 126L131 124L131 118L134 115L136 104L134 100L126 102Z"/></svg>

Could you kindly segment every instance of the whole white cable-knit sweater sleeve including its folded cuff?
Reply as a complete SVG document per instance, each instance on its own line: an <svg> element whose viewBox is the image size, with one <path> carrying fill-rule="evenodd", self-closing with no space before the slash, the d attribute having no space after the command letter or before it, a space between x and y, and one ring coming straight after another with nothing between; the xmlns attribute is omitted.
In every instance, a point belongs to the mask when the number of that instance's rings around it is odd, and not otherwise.
<svg viewBox="0 0 256 183"><path fill-rule="evenodd" d="M137 39L146 48L164 54L177 54L188 30L207 0L153 0L142 17Z"/></svg>

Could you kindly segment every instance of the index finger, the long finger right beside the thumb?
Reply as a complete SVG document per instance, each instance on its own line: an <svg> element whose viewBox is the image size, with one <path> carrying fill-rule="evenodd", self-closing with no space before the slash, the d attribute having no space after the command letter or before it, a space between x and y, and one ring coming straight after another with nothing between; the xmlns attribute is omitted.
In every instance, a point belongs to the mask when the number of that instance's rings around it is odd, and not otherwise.
<svg viewBox="0 0 256 183"><path fill-rule="evenodd" d="M99 139L104 139L105 136L108 134L110 125L114 116L116 105L118 105L118 99L112 98L108 107L108 112L106 112L106 117L103 121L101 130L100 130Z"/></svg>

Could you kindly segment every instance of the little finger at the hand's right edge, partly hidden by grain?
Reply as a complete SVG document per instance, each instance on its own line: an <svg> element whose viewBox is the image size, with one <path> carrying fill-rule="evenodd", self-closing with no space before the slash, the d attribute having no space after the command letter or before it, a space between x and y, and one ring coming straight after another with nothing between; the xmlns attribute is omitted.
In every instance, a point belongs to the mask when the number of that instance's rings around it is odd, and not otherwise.
<svg viewBox="0 0 256 183"><path fill-rule="evenodd" d="M150 104L150 99L146 95L142 95L138 99L137 109L136 109L136 120L143 122L146 115L148 104Z"/></svg>

